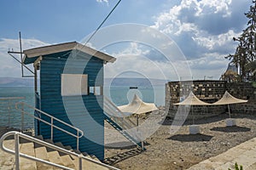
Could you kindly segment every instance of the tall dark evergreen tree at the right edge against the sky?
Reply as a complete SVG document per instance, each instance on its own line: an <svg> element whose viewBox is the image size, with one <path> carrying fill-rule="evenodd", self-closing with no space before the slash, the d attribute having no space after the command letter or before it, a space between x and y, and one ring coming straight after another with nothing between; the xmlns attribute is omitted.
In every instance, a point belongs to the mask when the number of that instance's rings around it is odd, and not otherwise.
<svg viewBox="0 0 256 170"><path fill-rule="evenodd" d="M242 31L241 37L233 37L234 41L239 42L235 54L229 54L226 59L230 59L232 63L240 67L240 80L244 80L250 71L247 71L246 65L253 62L256 52L256 0L252 1L250 10L245 13L247 16L247 28Z"/></svg>

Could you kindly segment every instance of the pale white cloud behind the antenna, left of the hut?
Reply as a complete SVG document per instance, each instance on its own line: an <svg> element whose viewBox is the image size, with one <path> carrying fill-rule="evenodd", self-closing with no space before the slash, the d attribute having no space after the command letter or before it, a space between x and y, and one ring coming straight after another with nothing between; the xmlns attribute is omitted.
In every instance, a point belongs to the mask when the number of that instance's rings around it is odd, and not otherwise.
<svg viewBox="0 0 256 170"><path fill-rule="evenodd" d="M49 45L37 39L22 39L22 48L36 48ZM2 38L0 40L0 77L21 77L20 64L15 61L8 51L20 51L20 42L18 39ZM14 54L17 59L20 59L20 54ZM25 71L26 74L29 74Z"/></svg>

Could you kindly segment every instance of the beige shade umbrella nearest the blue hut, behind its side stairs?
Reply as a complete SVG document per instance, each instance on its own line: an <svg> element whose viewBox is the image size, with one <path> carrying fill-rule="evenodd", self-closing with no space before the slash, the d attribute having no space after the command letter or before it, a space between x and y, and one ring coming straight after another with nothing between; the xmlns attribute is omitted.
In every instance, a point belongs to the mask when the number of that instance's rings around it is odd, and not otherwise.
<svg viewBox="0 0 256 170"><path fill-rule="evenodd" d="M145 103L140 99L137 94L134 94L133 99L128 105L118 106L119 110L126 113L137 114L137 125L138 125L138 115L142 113L147 113L149 111L157 111L158 108L154 103Z"/></svg>

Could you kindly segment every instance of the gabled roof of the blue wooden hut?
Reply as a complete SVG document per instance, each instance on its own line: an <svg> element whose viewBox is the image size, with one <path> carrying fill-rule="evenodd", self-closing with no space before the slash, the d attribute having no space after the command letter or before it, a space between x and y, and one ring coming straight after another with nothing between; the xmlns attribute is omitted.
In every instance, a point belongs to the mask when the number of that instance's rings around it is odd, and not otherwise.
<svg viewBox="0 0 256 170"><path fill-rule="evenodd" d="M23 51L25 54L25 57L23 58L23 63L24 64L31 64L33 63L38 57L44 56L47 54L56 54L56 53L61 53L65 51L71 51L73 49L77 49L79 51L84 52L85 54L90 54L92 56L95 56L98 59L102 59L106 62L114 62L116 58L104 54L100 51L97 51L96 49L89 48L79 42L65 42L65 43L59 43L59 44L54 44L54 45L49 45L49 46L44 46L44 47L39 47L39 48L31 48L31 49L26 49Z"/></svg>

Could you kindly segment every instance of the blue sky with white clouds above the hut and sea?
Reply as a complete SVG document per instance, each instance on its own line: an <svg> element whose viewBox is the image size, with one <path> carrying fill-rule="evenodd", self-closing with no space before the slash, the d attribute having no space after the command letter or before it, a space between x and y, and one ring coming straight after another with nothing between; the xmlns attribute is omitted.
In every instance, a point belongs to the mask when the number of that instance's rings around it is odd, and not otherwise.
<svg viewBox="0 0 256 170"><path fill-rule="evenodd" d="M84 42L84 37L96 30L117 2L1 1L0 77L20 77L20 65L7 54L8 50L19 51L19 31L23 49L60 42ZM224 56L236 51L237 42L232 38L239 37L247 27L244 13L251 4L251 0L122 0L103 24L103 30L126 23L148 26L176 44L176 49L169 50L172 51L170 55L177 49L181 54L166 61L160 48L134 39L100 49L93 42L88 45L117 58L115 63L105 65L106 77L122 77L127 71L133 71L144 77L168 80L219 79L229 63ZM134 33L131 30L127 28L118 33ZM111 42L116 35L112 32L108 36L104 37L105 41L109 38ZM162 43L171 49L168 43ZM183 75L183 72L189 74Z"/></svg>

